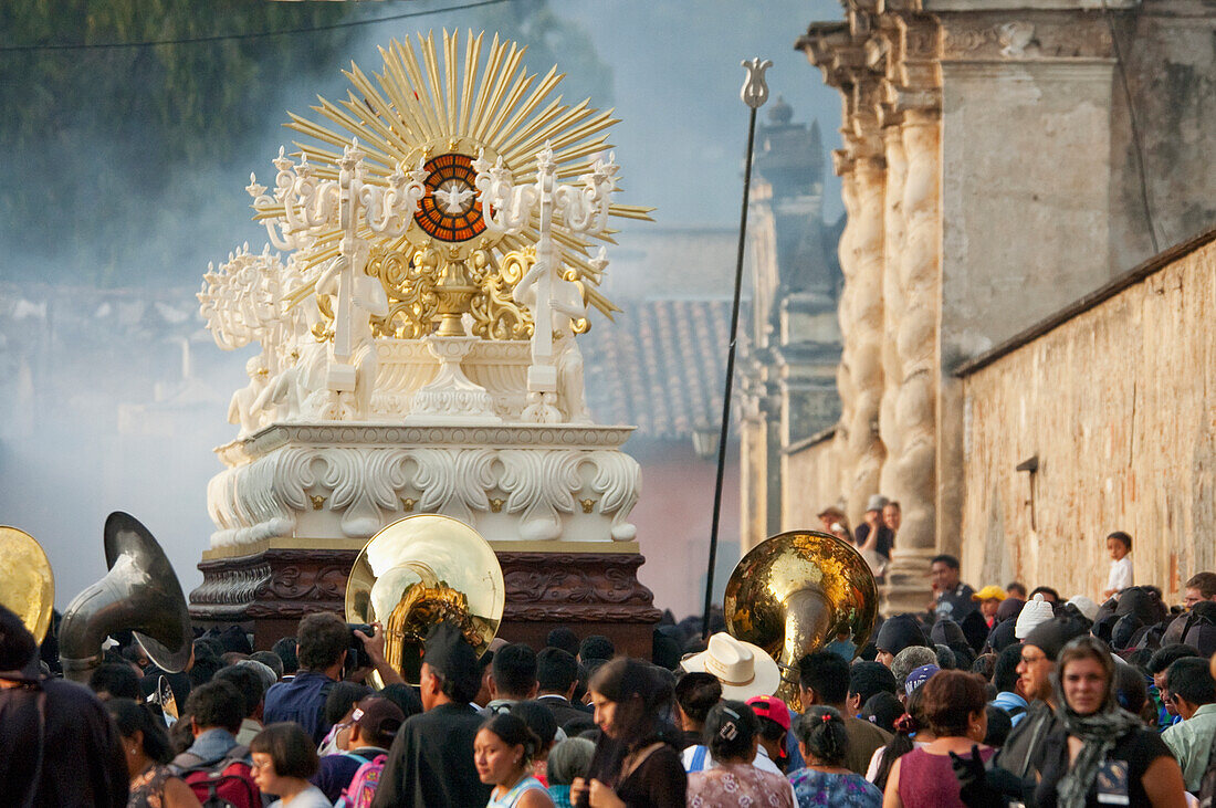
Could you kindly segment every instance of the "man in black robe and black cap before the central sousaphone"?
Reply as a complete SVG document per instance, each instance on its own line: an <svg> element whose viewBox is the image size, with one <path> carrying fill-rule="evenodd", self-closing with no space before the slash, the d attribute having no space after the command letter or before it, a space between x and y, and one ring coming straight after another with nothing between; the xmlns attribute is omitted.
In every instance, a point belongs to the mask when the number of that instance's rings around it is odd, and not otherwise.
<svg viewBox="0 0 1216 808"><path fill-rule="evenodd" d="M469 706L480 685L477 655L451 623L440 623L422 659L422 708L396 734L376 791L376 808L482 808L492 786L473 764L473 739L484 721Z"/></svg>

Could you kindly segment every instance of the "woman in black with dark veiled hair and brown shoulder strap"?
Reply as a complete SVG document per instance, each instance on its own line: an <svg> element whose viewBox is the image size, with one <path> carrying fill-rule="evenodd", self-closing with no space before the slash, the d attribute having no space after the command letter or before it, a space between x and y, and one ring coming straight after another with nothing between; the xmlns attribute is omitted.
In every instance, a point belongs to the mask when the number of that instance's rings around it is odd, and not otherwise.
<svg viewBox="0 0 1216 808"><path fill-rule="evenodd" d="M596 671L587 689L602 735L590 775L570 786L574 804L685 808L688 778L659 719L671 688L648 663L617 657Z"/></svg>

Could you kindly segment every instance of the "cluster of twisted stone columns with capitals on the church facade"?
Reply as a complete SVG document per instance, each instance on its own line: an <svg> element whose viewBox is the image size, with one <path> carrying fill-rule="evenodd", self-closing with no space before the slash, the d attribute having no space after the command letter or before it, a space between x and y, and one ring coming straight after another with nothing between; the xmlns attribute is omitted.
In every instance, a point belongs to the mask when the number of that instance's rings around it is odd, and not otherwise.
<svg viewBox="0 0 1216 808"><path fill-rule="evenodd" d="M878 18L880 17L880 18ZM860 21L865 19L865 24ZM1010 47L1025 47L1020 30ZM845 351L843 416L833 451L856 519L873 493L900 499L903 525L888 573L888 605L923 600L935 547L935 417L940 205L941 28L933 17L850 4L849 36L815 27L801 47L845 94L846 158L838 160L849 217L840 242ZM841 70L863 50L862 69ZM843 435L841 435L843 433ZM910 521L911 513L916 513Z"/></svg>

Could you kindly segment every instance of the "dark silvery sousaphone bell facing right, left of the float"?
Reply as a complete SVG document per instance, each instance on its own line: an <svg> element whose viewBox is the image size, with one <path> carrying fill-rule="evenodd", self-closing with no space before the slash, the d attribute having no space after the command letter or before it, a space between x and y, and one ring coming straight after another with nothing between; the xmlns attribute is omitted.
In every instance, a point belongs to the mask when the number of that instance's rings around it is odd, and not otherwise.
<svg viewBox="0 0 1216 808"><path fill-rule="evenodd" d="M105 529L109 572L78 594L60 623L63 676L86 682L108 634L133 629L148 659L175 673L192 650L190 611L168 556L135 516L112 513Z"/></svg>

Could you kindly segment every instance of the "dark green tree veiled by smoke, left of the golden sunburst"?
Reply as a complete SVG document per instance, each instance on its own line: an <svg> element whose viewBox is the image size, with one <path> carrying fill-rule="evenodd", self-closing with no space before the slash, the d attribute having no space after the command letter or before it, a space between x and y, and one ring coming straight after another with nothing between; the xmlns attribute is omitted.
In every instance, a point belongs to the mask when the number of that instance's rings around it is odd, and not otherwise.
<svg viewBox="0 0 1216 808"><path fill-rule="evenodd" d="M361 4L28 0L0 5L0 47L311 28ZM282 87L331 72L358 29L122 49L0 51L0 277L124 284L163 276L167 209L281 115ZM199 188L193 188L198 192ZM242 200L242 203L246 200ZM180 241L180 239L179 239ZM164 242L163 248L157 248ZM150 249L151 248L151 249ZM36 267L29 260L36 258ZM54 269L52 269L54 267ZM175 281L180 282L180 277Z"/></svg>

